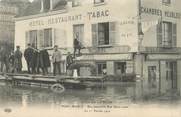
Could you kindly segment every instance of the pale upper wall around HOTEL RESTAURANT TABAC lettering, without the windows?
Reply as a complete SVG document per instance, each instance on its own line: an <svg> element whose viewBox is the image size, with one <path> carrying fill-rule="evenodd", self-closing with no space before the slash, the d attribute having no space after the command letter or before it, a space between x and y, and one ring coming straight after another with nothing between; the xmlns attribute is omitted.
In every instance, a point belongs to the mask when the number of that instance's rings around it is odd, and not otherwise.
<svg viewBox="0 0 181 117"><path fill-rule="evenodd" d="M132 10L130 10L132 7ZM125 10L128 12L125 13ZM118 12L119 11L119 12ZM93 13L107 12L108 16L94 16ZM54 12L55 13L55 12ZM39 30L43 28L54 28L56 30L56 44L60 47L73 46L73 29L74 24L84 24L86 46L92 46L91 24L98 22L117 22L117 45L128 45L132 47L132 51L137 50L137 20L132 20L131 17L137 15L136 0L109 1L103 5L84 4L84 6L69 8L65 13L53 12L42 14L42 16L30 16L18 18L16 20L16 36L15 45L24 45L24 33L28 30ZM54 15L53 15L54 14ZM81 16L80 16L81 15ZM58 22L59 17L75 16L78 17L74 21ZM74 17L74 18L75 18ZM132 21L131 24L128 21ZM41 24L38 24L41 23ZM23 28L22 28L23 27ZM124 32L123 32L124 31ZM21 33L22 35L19 35ZM63 43L62 43L63 41ZM22 48L24 49L24 48Z"/></svg>

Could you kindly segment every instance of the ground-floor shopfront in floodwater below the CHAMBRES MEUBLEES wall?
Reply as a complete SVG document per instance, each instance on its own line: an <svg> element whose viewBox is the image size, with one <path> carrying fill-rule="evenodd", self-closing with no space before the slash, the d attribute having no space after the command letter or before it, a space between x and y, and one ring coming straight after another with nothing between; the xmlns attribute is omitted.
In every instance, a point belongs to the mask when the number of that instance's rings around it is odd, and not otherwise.
<svg viewBox="0 0 181 117"><path fill-rule="evenodd" d="M172 54L149 54L143 65L145 91L148 93L166 93L179 88L180 78L178 62L180 56Z"/></svg>

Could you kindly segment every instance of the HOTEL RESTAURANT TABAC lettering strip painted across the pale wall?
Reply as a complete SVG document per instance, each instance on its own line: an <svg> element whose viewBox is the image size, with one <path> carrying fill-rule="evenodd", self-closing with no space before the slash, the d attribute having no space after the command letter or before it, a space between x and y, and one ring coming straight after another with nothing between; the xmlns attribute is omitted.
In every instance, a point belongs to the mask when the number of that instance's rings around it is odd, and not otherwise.
<svg viewBox="0 0 181 117"><path fill-rule="evenodd" d="M59 23L65 23L65 22L74 22L74 21L82 21L84 19L98 19L98 18L105 18L108 17L109 10L98 10L98 11L89 11L85 14L60 14L57 16L47 16L47 18L44 18L42 20L35 19L29 23L29 26L43 26L43 25L53 25L53 24L59 24Z"/></svg>

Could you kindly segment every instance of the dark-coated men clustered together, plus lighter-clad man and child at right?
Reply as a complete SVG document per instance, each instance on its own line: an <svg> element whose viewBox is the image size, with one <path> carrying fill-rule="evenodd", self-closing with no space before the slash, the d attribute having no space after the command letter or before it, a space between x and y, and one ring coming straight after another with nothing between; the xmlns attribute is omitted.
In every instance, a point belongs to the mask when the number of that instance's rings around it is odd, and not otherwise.
<svg viewBox="0 0 181 117"><path fill-rule="evenodd" d="M24 52L24 57L27 62L28 73L40 73L40 69L44 75L48 74L48 68L51 66L50 56L46 49L34 49L31 45ZM58 46L54 46L54 51L52 54L52 64L53 64L53 75L61 75L61 62L62 53L58 49ZM67 69L73 63L73 57L70 52L68 52L66 57Z"/></svg>

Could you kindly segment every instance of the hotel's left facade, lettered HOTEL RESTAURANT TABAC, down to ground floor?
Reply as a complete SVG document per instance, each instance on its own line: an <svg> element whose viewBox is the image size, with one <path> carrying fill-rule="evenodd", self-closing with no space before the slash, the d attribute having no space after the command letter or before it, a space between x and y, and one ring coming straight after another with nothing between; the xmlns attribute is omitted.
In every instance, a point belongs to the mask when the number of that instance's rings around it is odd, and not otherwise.
<svg viewBox="0 0 181 117"><path fill-rule="evenodd" d="M62 54L62 72L66 72L65 57L73 53L73 40L78 40L85 47L82 56L75 61L89 61L97 66L97 75L107 69L108 74L133 73L132 52L137 51L137 1L125 3L102 1L66 7L16 19L15 45L24 51L30 43L34 48L47 48L51 56L54 45L58 45ZM133 11L125 13L121 9ZM41 6L40 6L41 7ZM120 12L117 13L116 11ZM23 64L26 69L26 64Z"/></svg>

